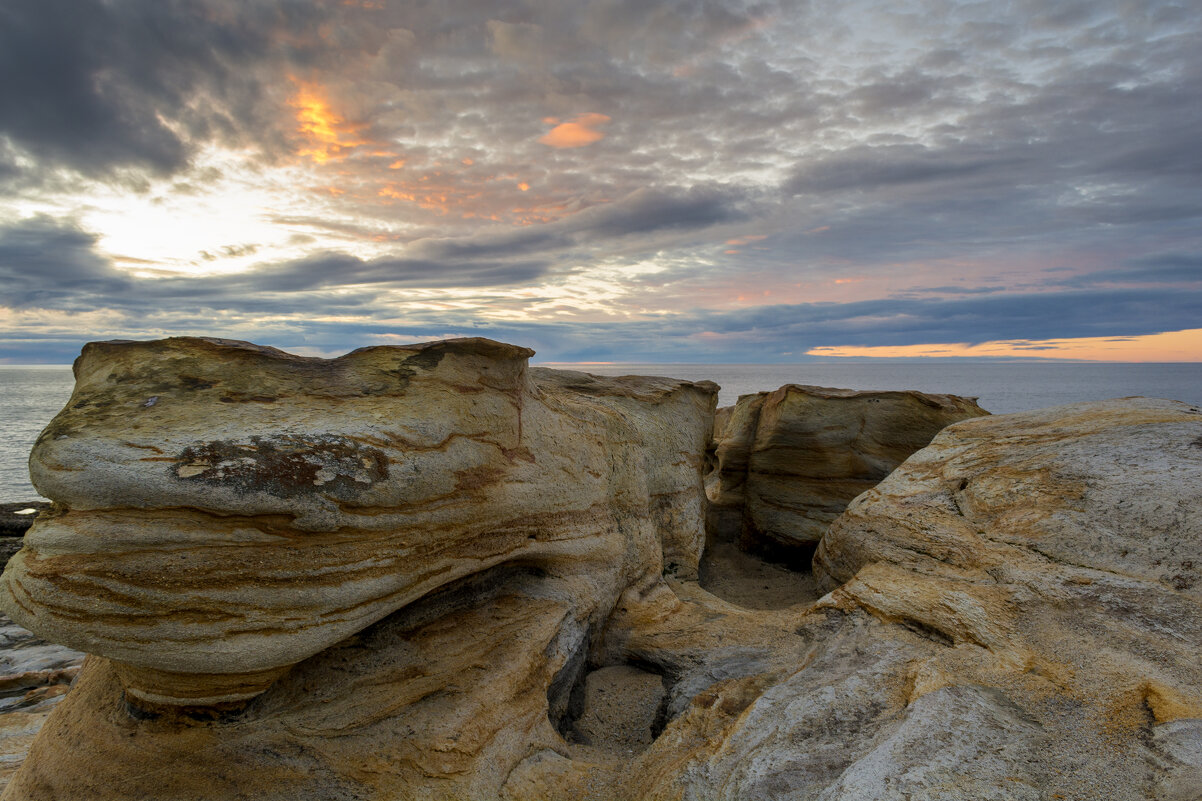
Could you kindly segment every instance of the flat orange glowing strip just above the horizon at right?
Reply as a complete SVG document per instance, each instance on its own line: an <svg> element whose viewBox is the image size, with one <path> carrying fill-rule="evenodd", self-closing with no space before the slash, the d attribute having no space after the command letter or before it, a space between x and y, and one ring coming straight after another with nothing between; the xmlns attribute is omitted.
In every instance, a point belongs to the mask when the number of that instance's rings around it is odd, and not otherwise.
<svg viewBox="0 0 1202 801"><path fill-rule="evenodd" d="M1142 337L1079 337L1073 339L1007 339L929 345L876 348L814 348L810 356L938 357L1010 356L1075 358L1088 362L1197 362L1202 361L1202 328L1167 331Z"/></svg>

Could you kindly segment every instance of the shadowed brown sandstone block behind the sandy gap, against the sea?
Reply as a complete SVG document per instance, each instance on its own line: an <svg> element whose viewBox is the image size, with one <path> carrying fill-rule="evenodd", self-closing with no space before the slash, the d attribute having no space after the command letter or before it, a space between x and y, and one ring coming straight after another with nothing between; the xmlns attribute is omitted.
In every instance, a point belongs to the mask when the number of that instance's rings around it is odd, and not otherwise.
<svg viewBox="0 0 1202 801"><path fill-rule="evenodd" d="M787 384L742 396L715 425L710 526L744 547L813 548L852 498L945 426L988 414L975 399Z"/></svg>

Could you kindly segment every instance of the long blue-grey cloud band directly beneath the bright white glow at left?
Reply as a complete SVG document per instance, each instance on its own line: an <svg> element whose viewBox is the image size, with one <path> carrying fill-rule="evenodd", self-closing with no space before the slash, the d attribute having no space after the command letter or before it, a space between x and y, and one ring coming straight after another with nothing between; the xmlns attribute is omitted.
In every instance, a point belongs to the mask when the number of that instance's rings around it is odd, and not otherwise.
<svg viewBox="0 0 1202 801"><path fill-rule="evenodd" d="M99 237L72 220L37 216L0 229L0 277L6 304L47 309L137 308L167 301L189 307L281 310L319 305L329 297L286 303L278 295L364 287L471 289L530 284L553 271L567 273L582 251L606 251L615 242L654 250L661 237L704 231L746 218L746 198L720 188L642 189L613 203L542 226L486 229L463 237L423 238L395 253L364 259L338 250L267 262L221 275L135 278L97 251ZM258 245L224 245L226 256L254 255ZM214 253L201 257L213 260ZM273 297L267 297L268 295ZM369 297L343 296L341 305Z"/></svg>

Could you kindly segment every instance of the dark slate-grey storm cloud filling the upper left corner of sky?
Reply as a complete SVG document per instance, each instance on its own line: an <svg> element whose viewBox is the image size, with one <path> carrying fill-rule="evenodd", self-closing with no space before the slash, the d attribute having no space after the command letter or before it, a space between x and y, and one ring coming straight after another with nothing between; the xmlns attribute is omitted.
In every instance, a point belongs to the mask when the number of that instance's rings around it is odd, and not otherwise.
<svg viewBox="0 0 1202 801"><path fill-rule="evenodd" d="M255 70L314 58L320 17L308 2L5 2L0 136L41 170L180 170L198 141L270 135Z"/></svg>

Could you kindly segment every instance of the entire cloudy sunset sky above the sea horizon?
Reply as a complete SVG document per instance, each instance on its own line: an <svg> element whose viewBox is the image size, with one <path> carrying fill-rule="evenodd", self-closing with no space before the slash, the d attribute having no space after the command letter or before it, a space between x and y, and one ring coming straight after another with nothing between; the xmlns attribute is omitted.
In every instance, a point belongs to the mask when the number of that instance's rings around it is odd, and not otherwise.
<svg viewBox="0 0 1202 801"><path fill-rule="evenodd" d="M0 0L0 362L1202 361L1186 0Z"/></svg>

